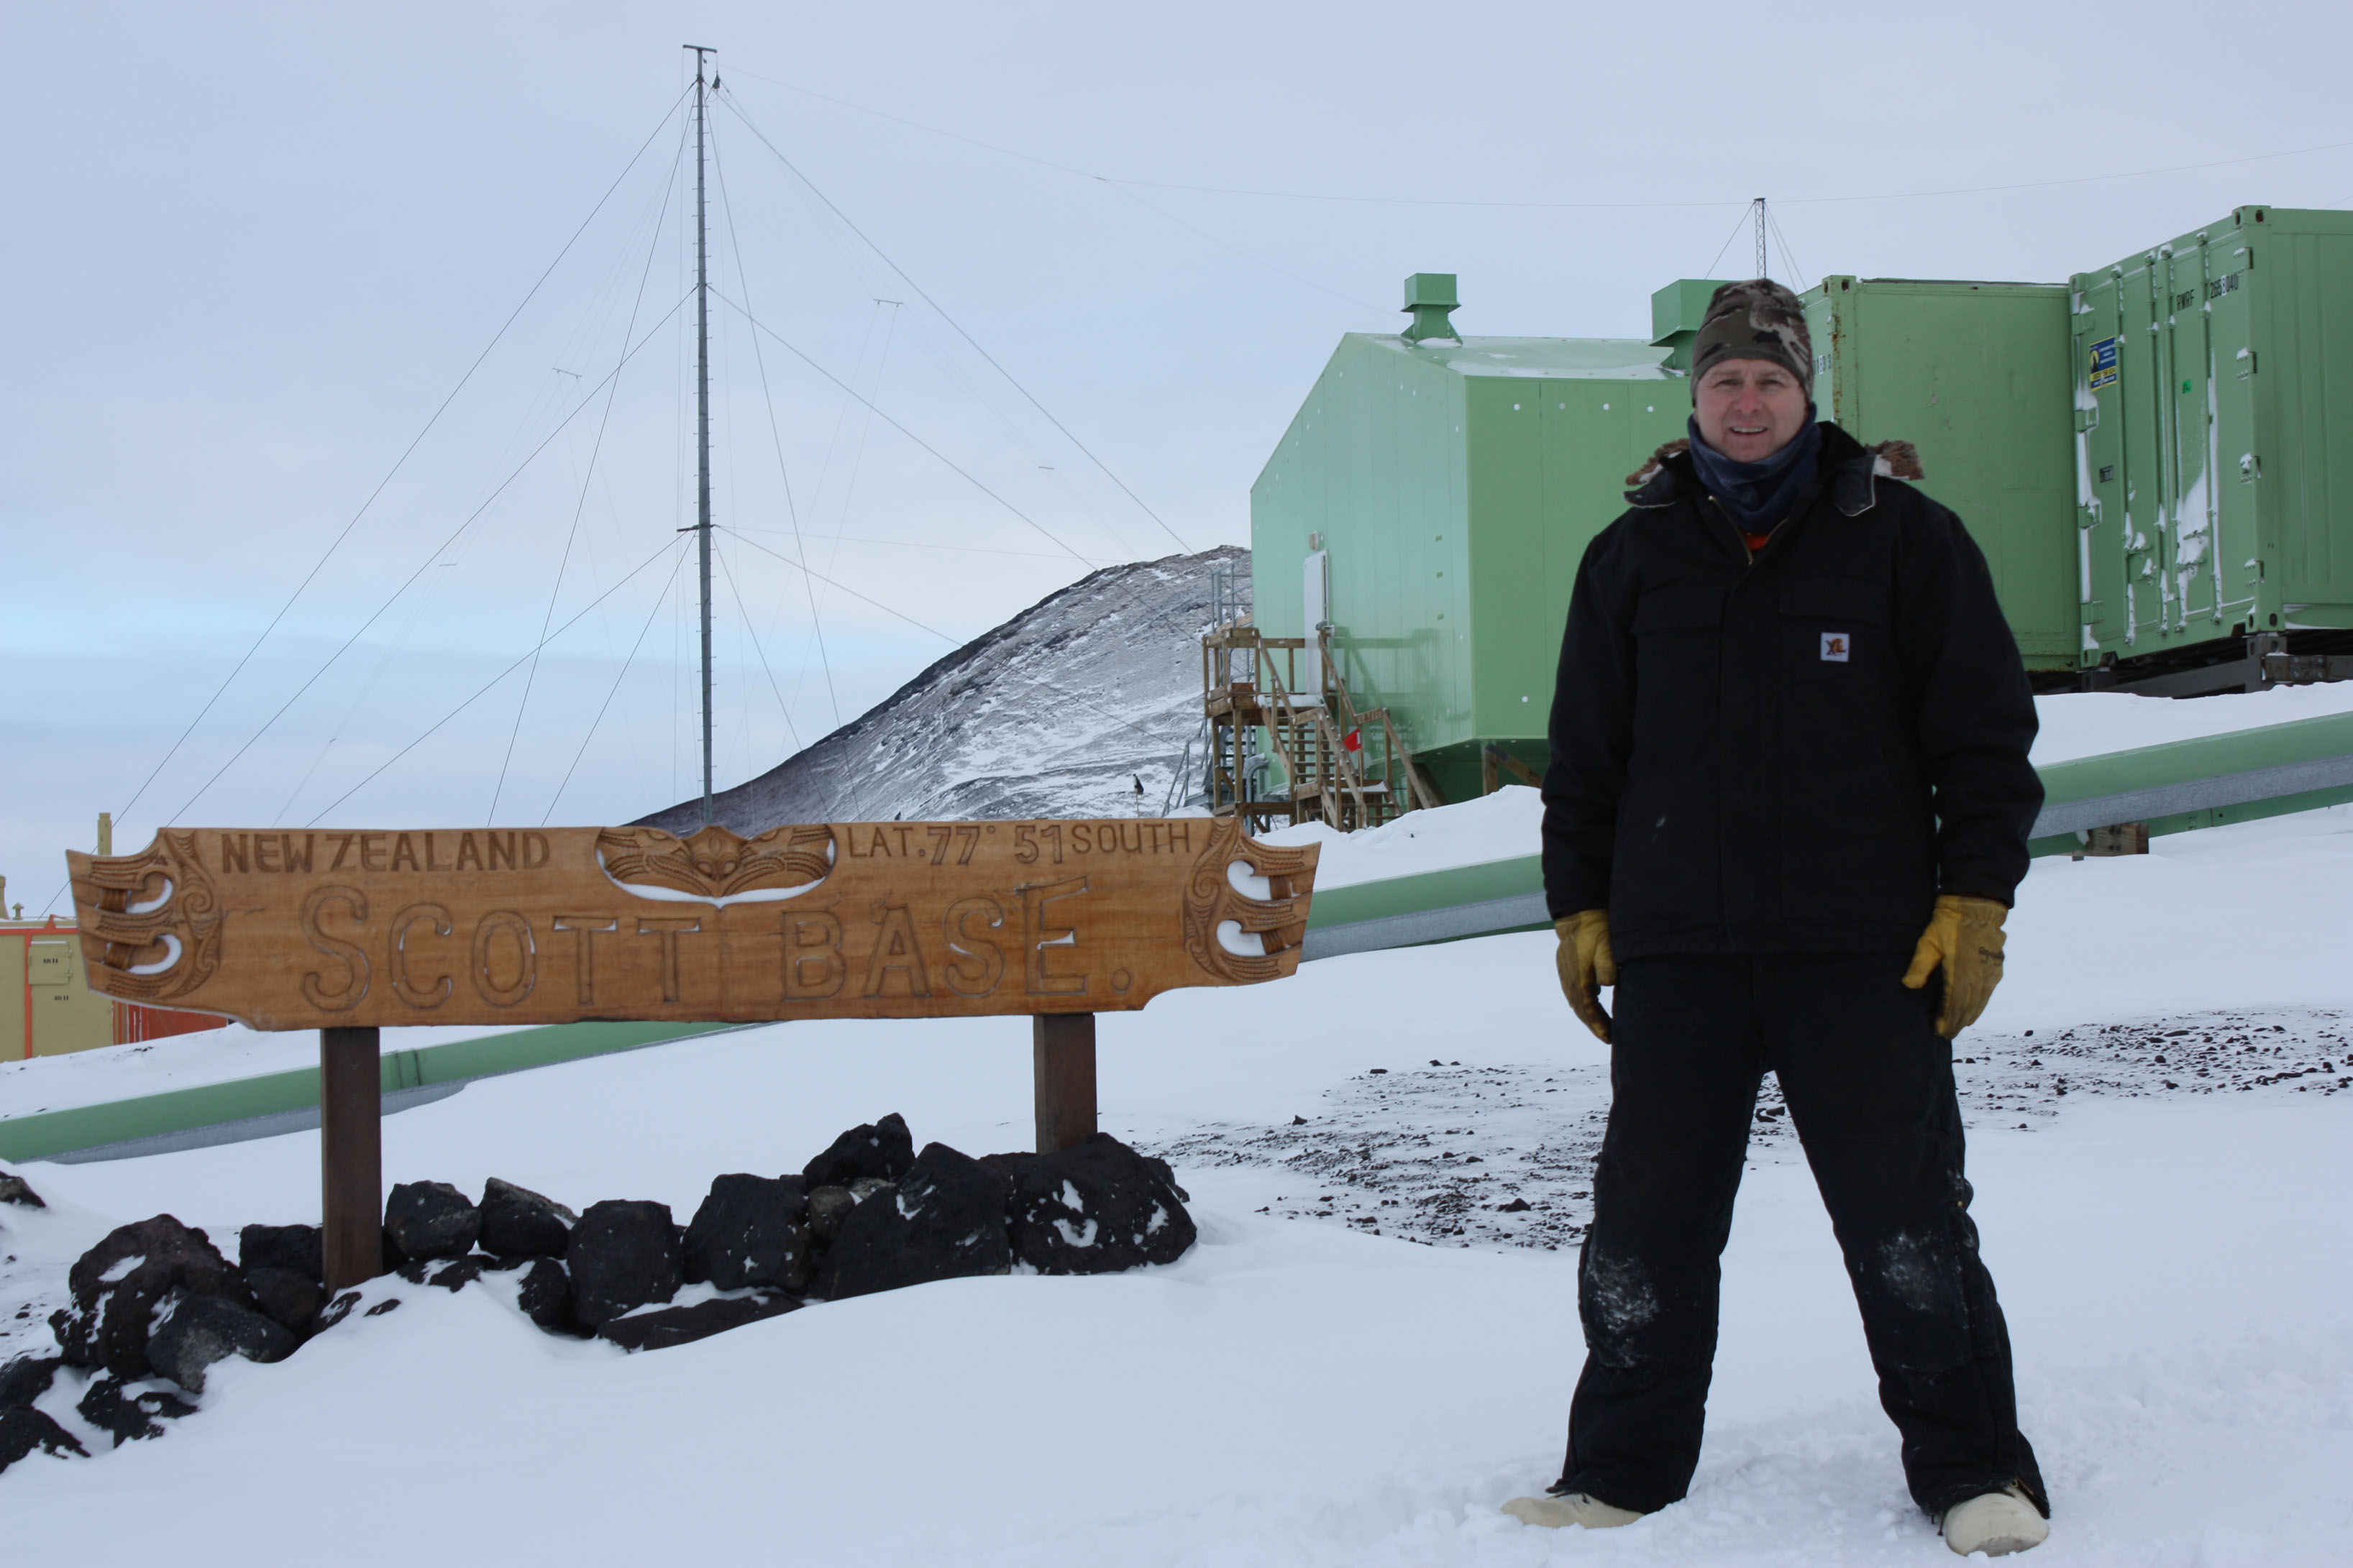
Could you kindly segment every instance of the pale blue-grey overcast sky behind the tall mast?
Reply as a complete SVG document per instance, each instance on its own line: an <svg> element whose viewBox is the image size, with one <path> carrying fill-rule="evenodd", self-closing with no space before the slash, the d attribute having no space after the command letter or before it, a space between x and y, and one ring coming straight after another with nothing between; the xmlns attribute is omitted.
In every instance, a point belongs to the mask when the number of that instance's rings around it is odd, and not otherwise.
<svg viewBox="0 0 2353 1568"><path fill-rule="evenodd" d="M1247 543L1405 273L1471 334L1647 336L1748 270L1751 195L1798 284L2348 207L2346 16L12 5L7 898L101 809L134 849L696 788L682 42L725 82L725 788L1092 567Z"/></svg>

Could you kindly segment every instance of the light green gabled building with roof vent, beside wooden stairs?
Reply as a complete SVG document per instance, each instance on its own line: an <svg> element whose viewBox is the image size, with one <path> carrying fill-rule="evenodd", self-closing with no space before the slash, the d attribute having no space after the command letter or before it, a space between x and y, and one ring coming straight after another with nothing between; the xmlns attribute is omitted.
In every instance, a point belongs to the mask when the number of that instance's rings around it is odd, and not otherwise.
<svg viewBox="0 0 2353 1568"><path fill-rule="evenodd" d="M1452 277L1407 280L1409 308L1417 284L1452 306ZM1409 331L1431 315L1452 331L1426 303ZM1313 637L1318 597L1351 696L1447 799L1478 795L1487 743L1546 764L1577 562L1692 411L1668 350L1351 331L1249 489L1257 625Z"/></svg>

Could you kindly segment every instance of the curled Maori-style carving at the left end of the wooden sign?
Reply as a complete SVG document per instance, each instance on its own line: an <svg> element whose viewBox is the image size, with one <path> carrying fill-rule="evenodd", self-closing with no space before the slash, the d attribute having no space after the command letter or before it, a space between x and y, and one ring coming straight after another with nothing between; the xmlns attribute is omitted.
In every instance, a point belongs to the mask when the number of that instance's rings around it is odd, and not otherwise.
<svg viewBox="0 0 2353 1568"><path fill-rule="evenodd" d="M165 1001L221 966L221 907L195 858L193 832L162 832L136 856L92 860L73 884L82 957L122 1001Z"/></svg>

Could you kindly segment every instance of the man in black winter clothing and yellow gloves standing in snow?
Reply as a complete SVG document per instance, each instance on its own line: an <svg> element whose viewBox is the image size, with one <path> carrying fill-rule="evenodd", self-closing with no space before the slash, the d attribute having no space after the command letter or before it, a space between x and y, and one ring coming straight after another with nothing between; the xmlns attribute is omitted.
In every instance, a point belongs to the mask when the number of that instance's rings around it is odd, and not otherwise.
<svg viewBox="0 0 2353 1568"><path fill-rule="evenodd" d="M1718 289L1692 437L1628 477L1577 571L1544 889L1612 1105L1567 1467L1506 1512L1621 1526L1689 1488L1772 1070L1913 1497L1953 1552L2019 1552L2049 1502L1977 1255L1951 1039L2002 973L2035 710L1986 559L1894 482L1920 477L1911 447L1814 423L1812 381L1788 289Z"/></svg>

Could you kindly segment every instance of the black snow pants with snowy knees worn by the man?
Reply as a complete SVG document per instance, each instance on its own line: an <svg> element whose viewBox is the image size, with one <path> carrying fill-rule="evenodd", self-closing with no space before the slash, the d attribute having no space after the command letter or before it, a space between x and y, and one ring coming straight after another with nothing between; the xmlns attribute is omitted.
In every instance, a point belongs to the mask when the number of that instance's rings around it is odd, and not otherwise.
<svg viewBox="0 0 2353 1568"><path fill-rule="evenodd" d="M1847 1258L1911 1495L1941 1516L2021 1486L2049 1514L1977 1255L1939 987L1904 990L1904 966L1885 952L1619 966L1609 1131L1577 1272L1586 1371L1555 1493L1647 1514L1689 1488L1718 1258L1772 1070Z"/></svg>

